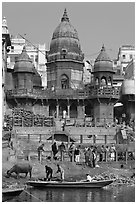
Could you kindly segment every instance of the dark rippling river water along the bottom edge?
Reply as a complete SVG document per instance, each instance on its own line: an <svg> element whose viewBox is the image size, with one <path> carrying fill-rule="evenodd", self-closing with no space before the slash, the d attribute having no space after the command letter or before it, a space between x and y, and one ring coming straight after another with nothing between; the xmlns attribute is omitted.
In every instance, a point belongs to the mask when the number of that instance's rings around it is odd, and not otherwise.
<svg viewBox="0 0 137 204"><path fill-rule="evenodd" d="M9 202L135 202L135 186L103 189L29 188Z"/></svg>

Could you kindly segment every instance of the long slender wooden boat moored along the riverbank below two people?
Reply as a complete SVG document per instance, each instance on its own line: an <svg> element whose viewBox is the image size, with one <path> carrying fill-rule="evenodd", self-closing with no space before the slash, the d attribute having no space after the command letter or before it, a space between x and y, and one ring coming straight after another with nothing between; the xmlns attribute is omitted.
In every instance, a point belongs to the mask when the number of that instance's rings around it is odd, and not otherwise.
<svg viewBox="0 0 137 204"><path fill-rule="evenodd" d="M102 188L111 184L114 180L100 181L28 181L27 185L35 188Z"/></svg>

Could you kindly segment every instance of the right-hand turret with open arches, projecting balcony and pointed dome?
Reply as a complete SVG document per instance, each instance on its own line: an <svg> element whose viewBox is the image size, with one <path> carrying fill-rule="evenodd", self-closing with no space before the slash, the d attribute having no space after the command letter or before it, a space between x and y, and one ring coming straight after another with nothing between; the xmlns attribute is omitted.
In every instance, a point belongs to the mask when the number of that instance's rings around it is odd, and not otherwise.
<svg viewBox="0 0 137 204"><path fill-rule="evenodd" d="M104 45L94 64L94 83L91 97L94 101L94 118L99 123L113 122L113 105L119 98L119 90L113 87L113 65Z"/></svg>

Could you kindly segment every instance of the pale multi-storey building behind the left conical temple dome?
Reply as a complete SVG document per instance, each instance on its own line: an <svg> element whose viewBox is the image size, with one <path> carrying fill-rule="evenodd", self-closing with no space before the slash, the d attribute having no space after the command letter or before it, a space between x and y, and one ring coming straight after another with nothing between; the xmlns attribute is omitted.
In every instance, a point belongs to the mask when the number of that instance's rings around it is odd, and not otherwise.
<svg viewBox="0 0 137 204"><path fill-rule="evenodd" d="M26 47L26 51L32 60L34 67L40 74L42 78L42 86L46 88L47 86L47 71L46 71L46 45L32 45L30 43L26 43L25 39L18 37L18 36L12 36L11 38L11 47L10 52L8 53L7 58L7 67L9 69L14 68L14 64L16 59L19 57L19 55L22 52L23 47Z"/></svg>

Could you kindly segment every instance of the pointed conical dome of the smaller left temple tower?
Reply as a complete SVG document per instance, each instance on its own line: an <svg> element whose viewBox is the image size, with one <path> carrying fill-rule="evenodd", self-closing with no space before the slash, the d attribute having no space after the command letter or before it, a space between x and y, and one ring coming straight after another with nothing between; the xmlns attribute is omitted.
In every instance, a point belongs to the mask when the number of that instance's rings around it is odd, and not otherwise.
<svg viewBox="0 0 137 204"><path fill-rule="evenodd" d="M26 52L25 46L18 59L15 61L14 73L16 72L34 73L33 63Z"/></svg>

